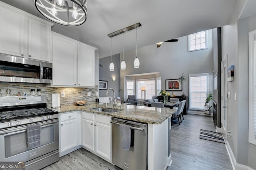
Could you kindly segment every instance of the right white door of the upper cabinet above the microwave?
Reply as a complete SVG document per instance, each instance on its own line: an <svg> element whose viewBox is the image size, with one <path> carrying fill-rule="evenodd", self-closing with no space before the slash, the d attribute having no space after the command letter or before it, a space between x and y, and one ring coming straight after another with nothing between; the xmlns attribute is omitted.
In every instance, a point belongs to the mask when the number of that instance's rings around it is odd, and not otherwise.
<svg viewBox="0 0 256 170"><path fill-rule="evenodd" d="M50 25L28 18L28 58L52 62Z"/></svg>

